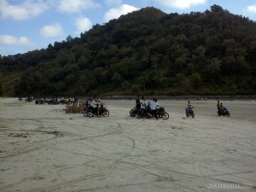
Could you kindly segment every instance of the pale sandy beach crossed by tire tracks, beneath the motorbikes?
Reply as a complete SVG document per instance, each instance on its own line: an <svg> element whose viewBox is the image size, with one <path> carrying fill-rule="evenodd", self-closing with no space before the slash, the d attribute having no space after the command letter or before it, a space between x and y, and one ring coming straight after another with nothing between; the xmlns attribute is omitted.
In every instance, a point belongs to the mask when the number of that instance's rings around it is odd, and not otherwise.
<svg viewBox="0 0 256 192"><path fill-rule="evenodd" d="M65 105L0 98L0 191L256 191L256 101L159 101L169 119L135 119L135 101L109 100L107 118ZM212 183L253 189L211 189Z"/></svg>

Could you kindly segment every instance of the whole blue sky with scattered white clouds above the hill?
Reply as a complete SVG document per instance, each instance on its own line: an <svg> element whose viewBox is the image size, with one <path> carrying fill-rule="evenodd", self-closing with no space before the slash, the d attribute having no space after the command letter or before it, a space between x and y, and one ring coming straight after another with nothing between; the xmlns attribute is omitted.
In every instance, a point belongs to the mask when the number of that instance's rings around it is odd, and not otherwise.
<svg viewBox="0 0 256 192"><path fill-rule="evenodd" d="M256 0L0 0L0 55L47 48L149 6L183 14L203 12L213 4L256 21Z"/></svg>

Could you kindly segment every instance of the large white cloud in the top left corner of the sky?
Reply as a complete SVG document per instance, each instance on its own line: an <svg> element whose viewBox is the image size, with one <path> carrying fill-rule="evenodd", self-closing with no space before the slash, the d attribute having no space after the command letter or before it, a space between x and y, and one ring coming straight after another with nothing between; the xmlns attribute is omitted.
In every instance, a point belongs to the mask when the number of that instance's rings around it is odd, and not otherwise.
<svg viewBox="0 0 256 192"><path fill-rule="evenodd" d="M12 5L7 0L0 0L0 16L14 20L26 20L43 13L48 6L42 1L26 0L23 3Z"/></svg>

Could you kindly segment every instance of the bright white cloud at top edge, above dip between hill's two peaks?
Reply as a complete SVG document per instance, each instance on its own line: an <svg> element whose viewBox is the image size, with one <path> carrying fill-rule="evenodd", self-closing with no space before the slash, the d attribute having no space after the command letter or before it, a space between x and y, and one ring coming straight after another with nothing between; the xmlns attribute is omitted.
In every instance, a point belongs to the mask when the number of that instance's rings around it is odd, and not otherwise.
<svg viewBox="0 0 256 192"><path fill-rule="evenodd" d="M193 5L206 3L207 0L155 0L156 2L171 8L189 9Z"/></svg>

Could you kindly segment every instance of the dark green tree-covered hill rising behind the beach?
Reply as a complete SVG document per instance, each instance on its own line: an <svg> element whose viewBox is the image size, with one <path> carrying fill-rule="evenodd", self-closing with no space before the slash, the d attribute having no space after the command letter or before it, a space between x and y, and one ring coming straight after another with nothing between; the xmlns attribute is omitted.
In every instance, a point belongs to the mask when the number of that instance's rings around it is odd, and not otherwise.
<svg viewBox="0 0 256 192"><path fill-rule="evenodd" d="M80 38L0 59L9 96L256 94L256 23L218 5L145 8Z"/></svg>

